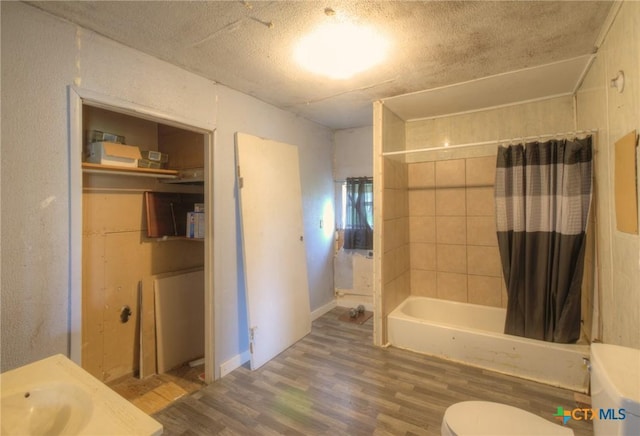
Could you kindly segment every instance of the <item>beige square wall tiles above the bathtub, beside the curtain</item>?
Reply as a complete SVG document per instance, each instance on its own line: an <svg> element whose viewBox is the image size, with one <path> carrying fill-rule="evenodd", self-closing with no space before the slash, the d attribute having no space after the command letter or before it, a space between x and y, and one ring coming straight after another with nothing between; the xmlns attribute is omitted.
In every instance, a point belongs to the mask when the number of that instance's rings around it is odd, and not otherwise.
<svg viewBox="0 0 640 436"><path fill-rule="evenodd" d="M506 307L495 159L385 162L384 246L394 260L385 263L384 277L394 300L406 298L404 287L411 295Z"/></svg>

